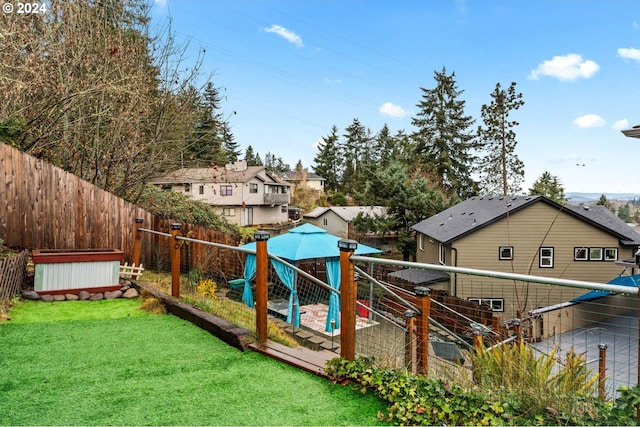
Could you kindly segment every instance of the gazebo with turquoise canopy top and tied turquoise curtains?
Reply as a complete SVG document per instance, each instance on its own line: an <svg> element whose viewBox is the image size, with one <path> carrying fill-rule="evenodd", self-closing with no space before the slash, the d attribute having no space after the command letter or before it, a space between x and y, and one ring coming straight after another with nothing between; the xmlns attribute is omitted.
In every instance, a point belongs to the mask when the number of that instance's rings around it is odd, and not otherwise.
<svg viewBox="0 0 640 427"><path fill-rule="evenodd" d="M267 252L275 255L291 264L302 260L324 258L327 267L327 282L331 288L340 289L340 250L338 249L339 237L329 234L326 230L312 224L303 224L292 228L289 232L273 237L267 241ZM255 250L255 242L242 246ZM369 255L382 252L379 249L359 244L355 253L357 255ZM300 326L300 304L297 292L297 274L295 271L277 261L272 260L272 265L278 277L289 289L289 304L287 310L287 322L296 327ZM244 268L244 291L242 301L249 307L253 307L253 295L251 293L251 280L255 277L256 257L248 254ZM336 292L329 293L329 308L325 330L340 327L340 298ZM332 322L333 321L333 322Z"/></svg>

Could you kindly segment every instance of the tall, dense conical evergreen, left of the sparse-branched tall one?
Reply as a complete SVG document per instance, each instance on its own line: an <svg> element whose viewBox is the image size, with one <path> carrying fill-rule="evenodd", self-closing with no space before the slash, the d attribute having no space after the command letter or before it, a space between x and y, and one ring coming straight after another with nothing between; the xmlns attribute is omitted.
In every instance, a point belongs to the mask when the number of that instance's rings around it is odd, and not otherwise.
<svg viewBox="0 0 640 427"><path fill-rule="evenodd" d="M447 75L443 67L434 73L434 79L433 89L420 88L419 112L411 120L417 128L412 134L416 160L437 175L446 194L466 198L478 189L471 178L475 158L470 128L475 121L465 115L466 102L460 99L464 91L458 90L455 73Z"/></svg>

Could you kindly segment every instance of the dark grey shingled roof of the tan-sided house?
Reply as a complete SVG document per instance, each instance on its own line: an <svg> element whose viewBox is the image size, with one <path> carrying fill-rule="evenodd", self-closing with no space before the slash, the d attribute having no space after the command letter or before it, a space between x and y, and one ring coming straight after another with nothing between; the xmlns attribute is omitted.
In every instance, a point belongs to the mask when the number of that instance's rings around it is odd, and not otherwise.
<svg viewBox="0 0 640 427"><path fill-rule="evenodd" d="M471 197L411 227L439 242L450 243L534 203L564 210L594 227L617 236L623 245L640 245L640 234L604 206L563 206L543 196Z"/></svg>

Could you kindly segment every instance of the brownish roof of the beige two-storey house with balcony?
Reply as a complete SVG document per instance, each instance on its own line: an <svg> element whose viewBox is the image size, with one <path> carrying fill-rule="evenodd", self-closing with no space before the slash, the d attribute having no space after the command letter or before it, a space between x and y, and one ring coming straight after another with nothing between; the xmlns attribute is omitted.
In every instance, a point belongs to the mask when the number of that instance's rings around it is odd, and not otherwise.
<svg viewBox="0 0 640 427"><path fill-rule="evenodd" d="M279 181L275 176L266 171L264 166L247 166L245 169L230 169L224 166L210 168L182 168L163 176L149 180L152 184L184 184L184 183L244 183L257 178L264 181L265 177L273 182L289 186L288 183Z"/></svg>

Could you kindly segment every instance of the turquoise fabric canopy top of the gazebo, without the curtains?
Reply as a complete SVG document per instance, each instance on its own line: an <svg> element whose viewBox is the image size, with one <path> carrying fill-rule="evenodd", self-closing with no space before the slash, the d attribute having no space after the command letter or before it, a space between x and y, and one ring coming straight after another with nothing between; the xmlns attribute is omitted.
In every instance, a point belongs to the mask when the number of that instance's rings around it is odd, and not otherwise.
<svg viewBox="0 0 640 427"><path fill-rule="evenodd" d="M287 261L303 259L339 257L338 241L340 237L329 234L327 230L313 224L303 224L292 228L289 232L270 238L267 251ZM255 242L241 246L256 249ZM377 254L380 249L358 244L356 255Z"/></svg>

